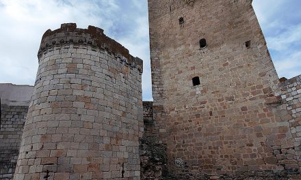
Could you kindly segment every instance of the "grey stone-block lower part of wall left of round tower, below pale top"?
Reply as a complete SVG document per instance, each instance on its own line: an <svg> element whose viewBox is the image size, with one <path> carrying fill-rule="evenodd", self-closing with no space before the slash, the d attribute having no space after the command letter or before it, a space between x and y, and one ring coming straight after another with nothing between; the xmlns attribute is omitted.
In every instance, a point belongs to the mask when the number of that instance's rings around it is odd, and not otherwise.
<svg viewBox="0 0 301 180"><path fill-rule="evenodd" d="M0 179L12 179L28 106L1 104Z"/></svg>

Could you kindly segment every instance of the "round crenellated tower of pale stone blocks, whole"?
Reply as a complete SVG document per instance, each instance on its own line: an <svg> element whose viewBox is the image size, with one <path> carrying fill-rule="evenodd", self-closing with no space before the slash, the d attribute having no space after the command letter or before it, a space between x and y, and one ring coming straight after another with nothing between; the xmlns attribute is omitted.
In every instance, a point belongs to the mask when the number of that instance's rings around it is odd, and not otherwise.
<svg viewBox="0 0 301 180"><path fill-rule="evenodd" d="M96 27L42 37L14 179L140 179L142 60Z"/></svg>

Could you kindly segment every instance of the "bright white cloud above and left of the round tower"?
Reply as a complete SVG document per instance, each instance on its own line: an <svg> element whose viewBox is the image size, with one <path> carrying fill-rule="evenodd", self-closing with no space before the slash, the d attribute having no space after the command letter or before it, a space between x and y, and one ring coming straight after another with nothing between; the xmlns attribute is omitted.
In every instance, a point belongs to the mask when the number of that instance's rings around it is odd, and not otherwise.
<svg viewBox="0 0 301 180"><path fill-rule="evenodd" d="M115 8L113 1L106 9ZM33 85L38 69L36 54L42 34L47 29L57 29L62 23L76 22L79 27L88 27L105 22L94 14L97 8L85 1L73 1L73 5L47 0L0 0L0 80L16 84ZM83 12L90 12L85 14ZM109 28L110 23L102 23ZM16 74L28 76L16 76Z"/></svg>

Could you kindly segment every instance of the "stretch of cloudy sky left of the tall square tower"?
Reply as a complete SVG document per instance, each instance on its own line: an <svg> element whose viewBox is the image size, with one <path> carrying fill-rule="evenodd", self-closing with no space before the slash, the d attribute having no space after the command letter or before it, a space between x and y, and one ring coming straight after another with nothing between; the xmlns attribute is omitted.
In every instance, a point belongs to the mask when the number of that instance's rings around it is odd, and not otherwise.
<svg viewBox="0 0 301 180"><path fill-rule="evenodd" d="M131 0L144 16L125 14L116 0L0 0L0 82L33 85L38 70L36 54L40 40L47 29L60 28L62 23L77 23L77 27L88 25L101 27L105 33L129 49L132 55L144 60L143 91L151 94L148 19L145 2ZM124 2L123 2L124 3ZM143 9L144 8L144 9ZM143 11L142 11L143 12ZM137 13L137 12L136 12ZM131 33L116 38L114 28L120 16L129 18ZM113 29L113 30L112 30ZM110 31L112 30L112 31ZM121 29L123 31L123 29Z"/></svg>

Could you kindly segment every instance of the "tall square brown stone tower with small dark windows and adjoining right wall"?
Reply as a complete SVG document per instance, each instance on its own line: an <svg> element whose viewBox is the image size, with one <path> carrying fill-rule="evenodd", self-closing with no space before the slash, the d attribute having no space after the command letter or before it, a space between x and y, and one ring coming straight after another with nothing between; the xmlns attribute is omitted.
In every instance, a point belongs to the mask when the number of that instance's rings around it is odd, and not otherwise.
<svg viewBox="0 0 301 180"><path fill-rule="evenodd" d="M149 0L148 10L146 134L166 145L169 172L298 173L300 77L279 82L252 1Z"/></svg>

